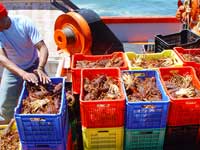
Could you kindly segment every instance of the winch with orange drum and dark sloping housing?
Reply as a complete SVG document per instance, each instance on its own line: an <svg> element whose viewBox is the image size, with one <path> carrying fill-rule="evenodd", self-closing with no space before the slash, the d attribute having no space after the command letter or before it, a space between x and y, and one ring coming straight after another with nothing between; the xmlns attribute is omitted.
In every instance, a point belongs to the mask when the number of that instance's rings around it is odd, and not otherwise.
<svg viewBox="0 0 200 150"><path fill-rule="evenodd" d="M56 19L54 28L58 50L70 55L124 52L123 44L96 12L80 9L69 0L62 0L62 3L51 0L51 3L64 12Z"/></svg>

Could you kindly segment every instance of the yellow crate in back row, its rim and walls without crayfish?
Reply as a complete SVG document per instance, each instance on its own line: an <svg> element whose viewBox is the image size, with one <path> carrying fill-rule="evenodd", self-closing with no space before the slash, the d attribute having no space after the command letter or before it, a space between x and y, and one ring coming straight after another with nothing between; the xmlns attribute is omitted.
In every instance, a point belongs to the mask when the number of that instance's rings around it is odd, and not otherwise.
<svg viewBox="0 0 200 150"><path fill-rule="evenodd" d="M146 69L146 68L142 68L142 67L133 67L131 65L131 60L138 58L138 57L145 58L146 60L159 60L161 58L169 57L169 58L172 58L173 60L176 60L176 63L174 65L168 66L168 67L183 66L182 60L179 58L179 56L173 50L164 50L161 53L136 54L134 52L126 52L125 54L126 54L126 59L128 61L129 70ZM157 70L158 68L148 68L148 69Z"/></svg>

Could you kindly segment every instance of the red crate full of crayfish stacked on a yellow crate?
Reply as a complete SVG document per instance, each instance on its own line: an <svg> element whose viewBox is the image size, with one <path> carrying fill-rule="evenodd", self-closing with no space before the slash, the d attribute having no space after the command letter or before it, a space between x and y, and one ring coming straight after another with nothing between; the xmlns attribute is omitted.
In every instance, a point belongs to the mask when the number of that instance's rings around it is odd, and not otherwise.
<svg viewBox="0 0 200 150"><path fill-rule="evenodd" d="M80 112L86 128L124 125L125 96L119 68L83 69Z"/></svg>

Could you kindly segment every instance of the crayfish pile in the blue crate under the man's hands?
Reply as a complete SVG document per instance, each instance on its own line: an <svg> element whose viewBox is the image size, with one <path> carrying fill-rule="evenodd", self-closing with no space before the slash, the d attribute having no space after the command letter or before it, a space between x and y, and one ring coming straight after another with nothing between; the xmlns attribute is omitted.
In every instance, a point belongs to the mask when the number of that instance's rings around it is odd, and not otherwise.
<svg viewBox="0 0 200 150"><path fill-rule="evenodd" d="M28 96L23 100L22 114L57 114L61 103L62 83L27 83Z"/></svg>

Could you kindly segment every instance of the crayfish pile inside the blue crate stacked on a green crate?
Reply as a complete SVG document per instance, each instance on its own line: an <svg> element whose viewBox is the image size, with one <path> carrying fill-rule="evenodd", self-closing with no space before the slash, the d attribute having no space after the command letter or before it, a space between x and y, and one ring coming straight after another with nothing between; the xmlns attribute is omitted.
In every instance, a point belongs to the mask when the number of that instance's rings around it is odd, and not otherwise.
<svg viewBox="0 0 200 150"><path fill-rule="evenodd" d="M155 77L142 79L131 73L123 73L122 79L129 102L161 101L162 94L156 86Z"/></svg>

